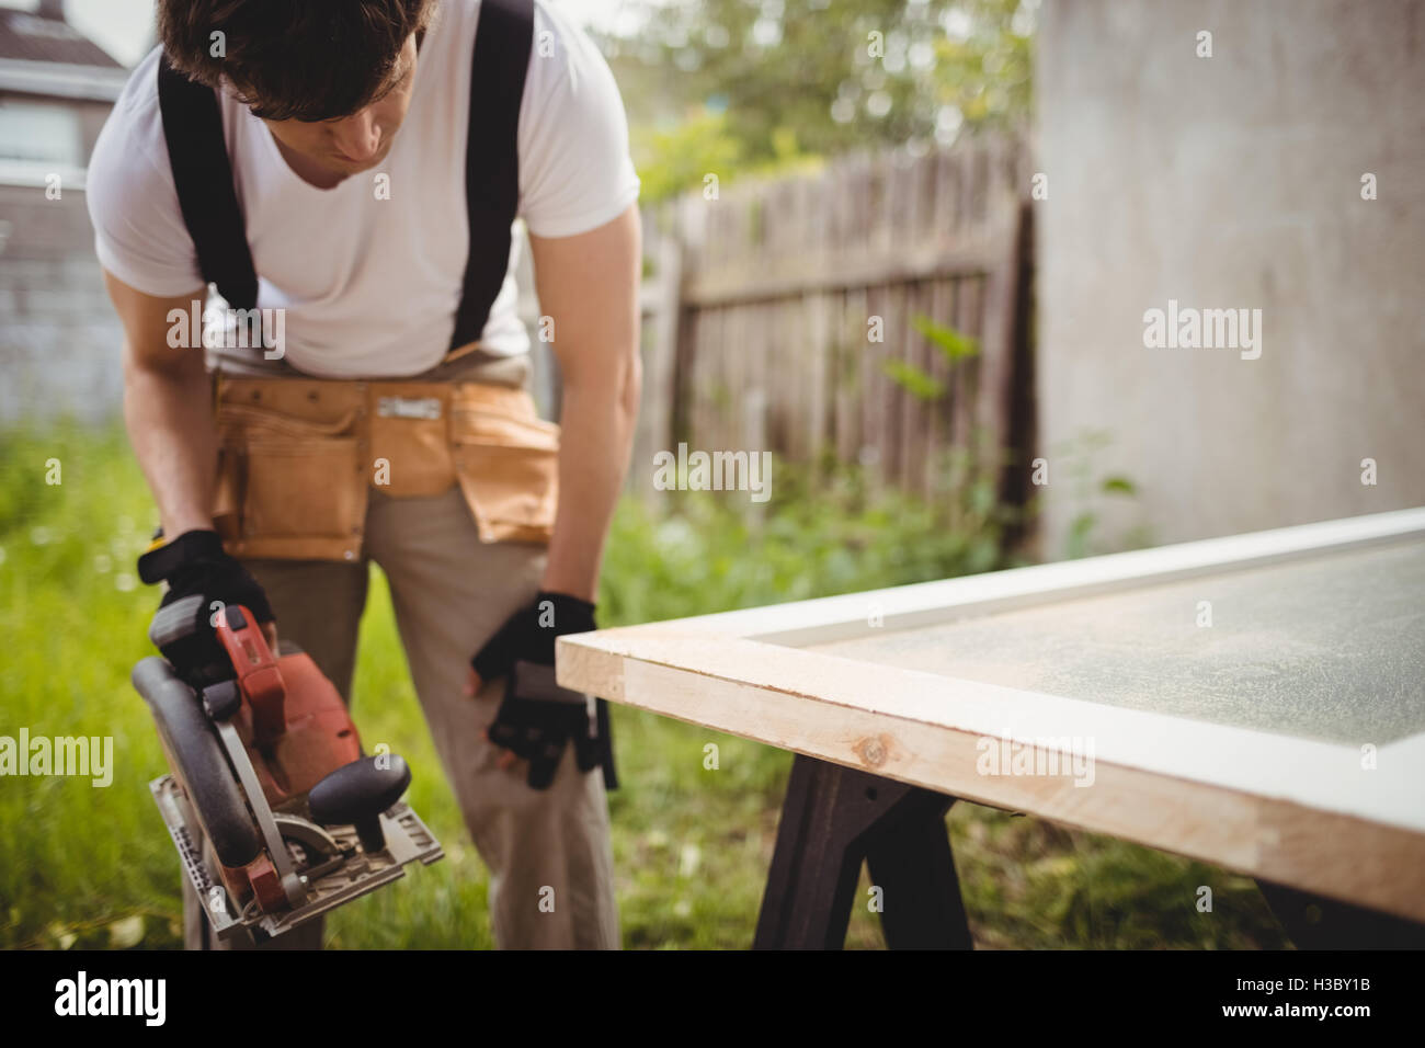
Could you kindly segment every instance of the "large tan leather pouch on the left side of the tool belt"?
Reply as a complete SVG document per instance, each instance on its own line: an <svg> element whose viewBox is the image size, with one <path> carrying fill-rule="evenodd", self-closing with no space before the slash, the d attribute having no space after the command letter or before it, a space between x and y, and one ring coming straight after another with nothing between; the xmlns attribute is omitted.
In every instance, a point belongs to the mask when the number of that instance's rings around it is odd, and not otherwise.
<svg viewBox="0 0 1425 1048"><path fill-rule="evenodd" d="M363 415L358 398L318 392L315 384L224 384L214 522L231 553L359 556L369 458Z"/></svg>

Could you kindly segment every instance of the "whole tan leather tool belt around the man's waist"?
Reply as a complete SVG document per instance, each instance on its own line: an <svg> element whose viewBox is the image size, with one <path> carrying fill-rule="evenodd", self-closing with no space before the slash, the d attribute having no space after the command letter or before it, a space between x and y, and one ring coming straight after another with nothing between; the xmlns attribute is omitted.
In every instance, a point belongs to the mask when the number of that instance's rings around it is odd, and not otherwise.
<svg viewBox="0 0 1425 1048"><path fill-rule="evenodd" d="M549 542L559 426L483 382L217 376L214 526L237 558L356 560L366 503L459 485L482 542Z"/></svg>

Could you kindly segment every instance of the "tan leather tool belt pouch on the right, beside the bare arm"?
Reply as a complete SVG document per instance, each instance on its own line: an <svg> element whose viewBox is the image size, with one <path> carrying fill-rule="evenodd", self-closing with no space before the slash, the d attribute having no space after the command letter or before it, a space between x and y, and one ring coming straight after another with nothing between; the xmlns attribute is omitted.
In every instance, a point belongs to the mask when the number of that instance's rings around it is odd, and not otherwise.
<svg viewBox="0 0 1425 1048"><path fill-rule="evenodd" d="M457 385L450 451L482 542L549 542L559 505L559 426L524 392Z"/></svg>

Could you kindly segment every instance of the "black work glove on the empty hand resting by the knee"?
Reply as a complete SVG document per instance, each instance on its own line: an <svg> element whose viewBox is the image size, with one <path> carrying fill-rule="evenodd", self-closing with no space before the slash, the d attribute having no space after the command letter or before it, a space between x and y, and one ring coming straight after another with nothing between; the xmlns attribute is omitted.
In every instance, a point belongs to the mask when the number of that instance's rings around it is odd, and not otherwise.
<svg viewBox="0 0 1425 1048"><path fill-rule="evenodd" d="M529 784L554 781L564 744L573 741L580 771L603 764L604 786L617 788L608 704L554 683L554 637L597 629L594 606L540 590L470 660L480 680L506 677L504 699L490 724L496 746L529 761Z"/></svg>

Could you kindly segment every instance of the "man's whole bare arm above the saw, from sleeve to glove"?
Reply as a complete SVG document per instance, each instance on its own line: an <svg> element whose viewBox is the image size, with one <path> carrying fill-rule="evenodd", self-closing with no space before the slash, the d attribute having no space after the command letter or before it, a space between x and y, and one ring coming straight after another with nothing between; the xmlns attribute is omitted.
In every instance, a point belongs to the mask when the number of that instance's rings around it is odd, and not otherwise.
<svg viewBox="0 0 1425 1048"><path fill-rule="evenodd" d="M218 436L201 338L197 346L168 345L170 311L190 312L207 291L154 298L107 271L104 282L124 324L124 422L164 533L211 529Z"/></svg>

